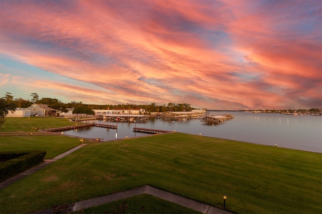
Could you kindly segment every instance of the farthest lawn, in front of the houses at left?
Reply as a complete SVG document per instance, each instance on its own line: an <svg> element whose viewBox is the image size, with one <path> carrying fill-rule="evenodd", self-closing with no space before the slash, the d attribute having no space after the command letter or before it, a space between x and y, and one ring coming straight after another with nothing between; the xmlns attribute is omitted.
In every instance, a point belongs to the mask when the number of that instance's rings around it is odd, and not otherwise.
<svg viewBox="0 0 322 214"><path fill-rule="evenodd" d="M2 125L0 132L15 132L15 131L35 131L41 129L57 128L61 126L71 126L75 122L71 122L65 118L57 117L23 117L23 118L6 118L5 124Z"/></svg>

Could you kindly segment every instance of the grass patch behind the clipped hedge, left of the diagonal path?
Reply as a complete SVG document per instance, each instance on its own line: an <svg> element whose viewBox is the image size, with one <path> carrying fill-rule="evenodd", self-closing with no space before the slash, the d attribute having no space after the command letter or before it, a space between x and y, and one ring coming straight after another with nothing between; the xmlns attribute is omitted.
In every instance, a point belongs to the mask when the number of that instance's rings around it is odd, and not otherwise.
<svg viewBox="0 0 322 214"><path fill-rule="evenodd" d="M67 136L4 136L0 137L0 151L42 150L46 159L54 158L81 144Z"/></svg>

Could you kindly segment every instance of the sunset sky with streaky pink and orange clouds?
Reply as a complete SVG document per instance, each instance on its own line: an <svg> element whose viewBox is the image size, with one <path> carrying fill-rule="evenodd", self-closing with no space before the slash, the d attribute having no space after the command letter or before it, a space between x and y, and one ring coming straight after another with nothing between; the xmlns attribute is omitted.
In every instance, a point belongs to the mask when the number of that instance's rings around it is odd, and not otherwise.
<svg viewBox="0 0 322 214"><path fill-rule="evenodd" d="M0 89L64 103L322 108L322 1L0 0Z"/></svg>

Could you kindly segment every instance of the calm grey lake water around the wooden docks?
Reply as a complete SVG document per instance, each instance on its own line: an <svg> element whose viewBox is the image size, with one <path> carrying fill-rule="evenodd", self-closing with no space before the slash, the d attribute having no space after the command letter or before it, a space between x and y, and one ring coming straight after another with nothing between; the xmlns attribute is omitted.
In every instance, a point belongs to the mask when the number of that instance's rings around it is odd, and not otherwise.
<svg viewBox="0 0 322 214"><path fill-rule="evenodd" d="M232 114L234 118L219 125L207 124L200 119L150 118L145 123L118 122L117 130L92 127L78 129L77 131L65 131L64 134L87 138L104 138L104 140L146 135L133 132L133 127L136 125L136 127L141 128L176 130L195 135L201 134L273 146L277 144L279 147L322 153L322 117L235 111L210 111L210 114ZM116 122L105 120L96 120L95 122L116 125Z"/></svg>

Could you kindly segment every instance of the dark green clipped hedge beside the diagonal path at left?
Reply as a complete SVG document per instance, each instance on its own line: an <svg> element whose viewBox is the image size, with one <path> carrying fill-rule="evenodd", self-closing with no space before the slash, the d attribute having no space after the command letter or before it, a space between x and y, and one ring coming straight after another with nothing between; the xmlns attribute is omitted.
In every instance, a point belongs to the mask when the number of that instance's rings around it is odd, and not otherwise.
<svg viewBox="0 0 322 214"><path fill-rule="evenodd" d="M46 151L0 152L2 161L7 160L0 164L0 182L41 163L45 155Z"/></svg>

